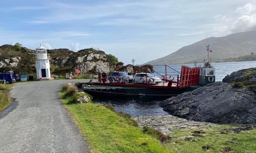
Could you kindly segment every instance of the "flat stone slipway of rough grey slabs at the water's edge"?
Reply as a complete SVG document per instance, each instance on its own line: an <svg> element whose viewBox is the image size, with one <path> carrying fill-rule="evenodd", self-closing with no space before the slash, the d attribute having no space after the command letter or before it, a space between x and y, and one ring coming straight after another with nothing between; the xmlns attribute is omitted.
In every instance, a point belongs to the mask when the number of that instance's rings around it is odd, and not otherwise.
<svg viewBox="0 0 256 153"><path fill-rule="evenodd" d="M165 134L171 134L173 129L177 128L190 129L207 127L209 125L216 126L213 123L186 120L173 115L132 116L132 119L136 120L140 128L148 126Z"/></svg>

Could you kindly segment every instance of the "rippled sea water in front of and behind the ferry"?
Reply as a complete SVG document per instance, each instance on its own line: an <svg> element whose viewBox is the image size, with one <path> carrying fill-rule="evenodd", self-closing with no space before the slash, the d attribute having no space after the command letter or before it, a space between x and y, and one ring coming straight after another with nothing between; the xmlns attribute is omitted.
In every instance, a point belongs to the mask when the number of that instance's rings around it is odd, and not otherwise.
<svg viewBox="0 0 256 153"><path fill-rule="evenodd" d="M182 64L189 67L194 67L194 64ZM197 64L199 66L200 64ZM203 64L201 64L203 65ZM225 63L211 63L216 69L216 81L222 81L222 79L230 75L234 71L240 69L248 69L256 67L256 61L251 62L225 62ZM171 68L180 72L181 65L169 65ZM178 74L173 69L167 67L167 74ZM165 66L156 66L154 70L161 75L165 75ZM153 73L157 75L156 73ZM168 114L168 112L163 111L163 109L158 106L159 100L166 99L167 97L104 97L104 98L94 98L94 102L98 104L109 104L114 106L116 111L123 111L124 113L129 113L131 115L160 115Z"/></svg>

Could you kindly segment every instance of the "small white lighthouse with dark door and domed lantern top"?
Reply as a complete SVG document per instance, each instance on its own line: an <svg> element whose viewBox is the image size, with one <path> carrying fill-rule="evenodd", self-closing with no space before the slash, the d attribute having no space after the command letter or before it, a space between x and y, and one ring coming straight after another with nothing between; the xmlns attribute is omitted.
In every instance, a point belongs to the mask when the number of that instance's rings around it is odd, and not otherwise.
<svg viewBox="0 0 256 153"><path fill-rule="evenodd" d="M34 59L36 60L37 79L51 78L50 55L47 54L47 50L42 46L42 44L36 48L36 55L34 56Z"/></svg>

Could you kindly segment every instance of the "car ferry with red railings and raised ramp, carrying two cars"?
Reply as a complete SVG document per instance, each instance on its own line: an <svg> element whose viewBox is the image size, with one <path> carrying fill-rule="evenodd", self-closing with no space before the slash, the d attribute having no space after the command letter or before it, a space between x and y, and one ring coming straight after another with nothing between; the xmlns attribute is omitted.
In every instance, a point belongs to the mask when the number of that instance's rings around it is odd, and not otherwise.
<svg viewBox="0 0 256 153"><path fill-rule="evenodd" d="M207 46L207 51L209 45ZM111 72L109 76L100 78L95 84L83 84L81 87L84 91L91 95L104 96L177 96L181 93L193 91L206 84L215 82L215 68L209 62L204 63L203 67L191 68L188 66L181 66L181 71L178 72L168 65L150 65L164 66L165 74L160 74L154 69L154 76L148 73L149 65L144 66L120 66L117 71ZM138 73L132 77L126 75L125 72L120 71L124 67L137 67ZM140 73L140 69L145 71ZM144 69L145 68L145 69ZM167 69L172 69L177 74L168 74ZM114 75L113 75L114 74ZM115 81L114 81L115 80Z"/></svg>

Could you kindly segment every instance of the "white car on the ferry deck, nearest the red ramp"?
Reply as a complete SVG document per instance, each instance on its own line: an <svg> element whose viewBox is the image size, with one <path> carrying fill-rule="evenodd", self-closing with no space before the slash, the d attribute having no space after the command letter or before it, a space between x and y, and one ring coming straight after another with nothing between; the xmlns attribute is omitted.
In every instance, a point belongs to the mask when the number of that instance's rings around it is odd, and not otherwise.
<svg viewBox="0 0 256 153"><path fill-rule="evenodd" d="M134 84L145 84L146 83L146 73L136 73L133 76ZM147 83L148 84L158 84L161 83L161 79L159 77L155 77L150 73L147 73Z"/></svg>

